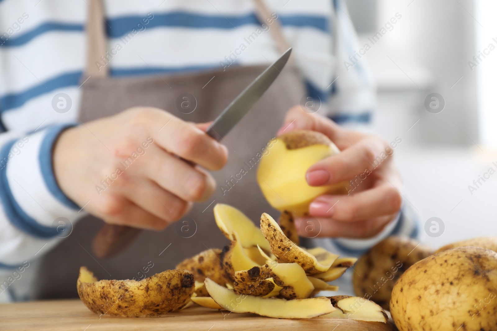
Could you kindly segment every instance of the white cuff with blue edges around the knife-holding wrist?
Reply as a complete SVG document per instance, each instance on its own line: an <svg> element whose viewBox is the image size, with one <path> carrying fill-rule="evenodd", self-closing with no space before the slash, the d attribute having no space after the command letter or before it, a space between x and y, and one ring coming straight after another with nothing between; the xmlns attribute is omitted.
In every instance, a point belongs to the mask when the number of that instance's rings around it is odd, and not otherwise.
<svg viewBox="0 0 497 331"><path fill-rule="evenodd" d="M60 237L83 216L58 186L52 150L57 137L74 125L56 125L0 149L0 199L10 223L36 238Z"/></svg>

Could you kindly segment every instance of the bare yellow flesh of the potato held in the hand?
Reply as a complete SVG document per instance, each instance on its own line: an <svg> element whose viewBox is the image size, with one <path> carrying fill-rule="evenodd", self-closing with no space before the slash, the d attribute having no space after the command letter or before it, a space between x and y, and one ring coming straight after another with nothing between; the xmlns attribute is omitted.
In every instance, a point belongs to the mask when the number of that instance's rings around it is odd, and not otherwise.
<svg viewBox="0 0 497 331"><path fill-rule="evenodd" d="M310 166L336 154L336 147L333 147L316 144L287 149L283 141L274 144L270 153L261 158L257 170L257 183L269 204L280 211L288 210L302 216L309 212L312 200L336 187L343 187L343 184L312 187L306 181Z"/></svg>

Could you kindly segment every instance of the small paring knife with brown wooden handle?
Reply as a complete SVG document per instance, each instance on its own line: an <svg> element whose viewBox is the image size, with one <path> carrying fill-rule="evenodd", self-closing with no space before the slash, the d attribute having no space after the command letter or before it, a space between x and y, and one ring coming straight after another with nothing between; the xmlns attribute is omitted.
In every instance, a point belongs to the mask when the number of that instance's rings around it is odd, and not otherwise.
<svg viewBox="0 0 497 331"><path fill-rule="evenodd" d="M248 85L228 107L214 120L207 130L216 141L223 139L248 113L253 105L271 86L286 65L292 48L289 48L273 64L268 66ZM187 161L188 162L188 161ZM188 162L191 164L191 162ZM91 248L99 259L111 258L124 251L140 234L142 229L126 225L105 224L95 235Z"/></svg>

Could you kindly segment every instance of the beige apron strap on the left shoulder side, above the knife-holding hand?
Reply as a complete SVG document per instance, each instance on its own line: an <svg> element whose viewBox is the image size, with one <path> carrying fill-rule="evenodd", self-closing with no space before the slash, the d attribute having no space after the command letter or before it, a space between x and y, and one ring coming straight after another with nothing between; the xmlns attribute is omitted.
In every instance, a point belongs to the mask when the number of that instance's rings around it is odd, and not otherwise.
<svg viewBox="0 0 497 331"><path fill-rule="evenodd" d="M86 77L105 77L108 66L97 67L102 63L100 57L107 55L107 38L105 33L105 12L102 0L88 1L88 18L86 21Z"/></svg>

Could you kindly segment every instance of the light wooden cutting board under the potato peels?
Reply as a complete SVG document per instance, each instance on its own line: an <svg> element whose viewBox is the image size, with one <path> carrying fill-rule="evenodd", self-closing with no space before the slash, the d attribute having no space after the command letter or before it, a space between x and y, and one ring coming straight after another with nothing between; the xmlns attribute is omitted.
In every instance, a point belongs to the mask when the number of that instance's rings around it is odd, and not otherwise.
<svg viewBox="0 0 497 331"><path fill-rule="evenodd" d="M0 304L0 330L93 331L396 331L389 323L342 319L285 320L236 314L199 306L163 317L125 318L90 312L79 299Z"/></svg>

